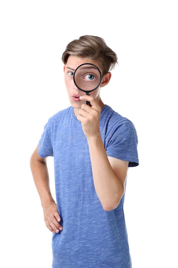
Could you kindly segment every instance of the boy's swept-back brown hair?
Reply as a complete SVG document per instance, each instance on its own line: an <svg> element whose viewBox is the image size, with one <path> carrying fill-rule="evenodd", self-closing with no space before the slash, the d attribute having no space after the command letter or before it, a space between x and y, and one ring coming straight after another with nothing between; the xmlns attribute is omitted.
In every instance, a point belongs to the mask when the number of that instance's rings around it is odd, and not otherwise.
<svg viewBox="0 0 178 268"><path fill-rule="evenodd" d="M62 61L67 63L69 55L98 59L102 68L102 76L115 68L117 55L110 49L103 38L93 35L83 35L71 41L62 54Z"/></svg>

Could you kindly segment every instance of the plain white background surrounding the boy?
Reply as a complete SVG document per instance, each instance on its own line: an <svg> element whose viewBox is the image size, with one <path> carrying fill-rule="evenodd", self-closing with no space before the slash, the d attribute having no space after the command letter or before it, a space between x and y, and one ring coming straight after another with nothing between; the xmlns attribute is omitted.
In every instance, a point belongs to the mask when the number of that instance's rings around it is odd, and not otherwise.
<svg viewBox="0 0 178 268"><path fill-rule="evenodd" d="M101 99L137 130L124 204L132 267L177 267L177 12L176 1L1 1L1 267L51 267L29 159L49 117L70 106L61 57L81 35L116 52Z"/></svg>

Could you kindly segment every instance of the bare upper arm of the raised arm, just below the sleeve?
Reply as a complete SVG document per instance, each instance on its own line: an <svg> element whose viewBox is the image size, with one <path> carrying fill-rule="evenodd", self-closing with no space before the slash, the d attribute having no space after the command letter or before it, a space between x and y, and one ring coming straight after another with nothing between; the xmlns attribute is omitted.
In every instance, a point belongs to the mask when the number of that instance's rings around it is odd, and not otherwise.
<svg viewBox="0 0 178 268"><path fill-rule="evenodd" d="M123 189L125 190L125 179L127 176L127 170L128 170L128 162L124 161L115 157L107 156L110 165L112 166L112 169L120 182L123 185Z"/></svg>

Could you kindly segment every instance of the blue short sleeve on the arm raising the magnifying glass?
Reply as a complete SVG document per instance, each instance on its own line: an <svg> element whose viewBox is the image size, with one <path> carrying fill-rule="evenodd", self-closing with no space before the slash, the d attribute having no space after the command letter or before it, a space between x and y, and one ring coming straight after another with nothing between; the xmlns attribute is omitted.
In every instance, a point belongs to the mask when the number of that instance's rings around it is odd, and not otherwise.
<svg viewBox="0 0 178 268"><path fill-rule="evenodd" d="M125 120L115 127L106 148L108 156L129 161L128 167L138 166L138 138L134 124Z"/></svg>

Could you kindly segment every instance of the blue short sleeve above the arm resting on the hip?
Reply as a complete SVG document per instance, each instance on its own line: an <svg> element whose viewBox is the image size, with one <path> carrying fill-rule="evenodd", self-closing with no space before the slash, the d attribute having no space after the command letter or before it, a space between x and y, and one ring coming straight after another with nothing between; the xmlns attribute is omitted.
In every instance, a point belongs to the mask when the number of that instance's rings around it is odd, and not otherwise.
<svg viewBox="0 0 178 268"><path fill-rule="evenodd" d="M38 155L42 158L45 158L47 156L53 156L53 146L48 131L48 122L45 124L44 131L39 140Z"/></svg>

